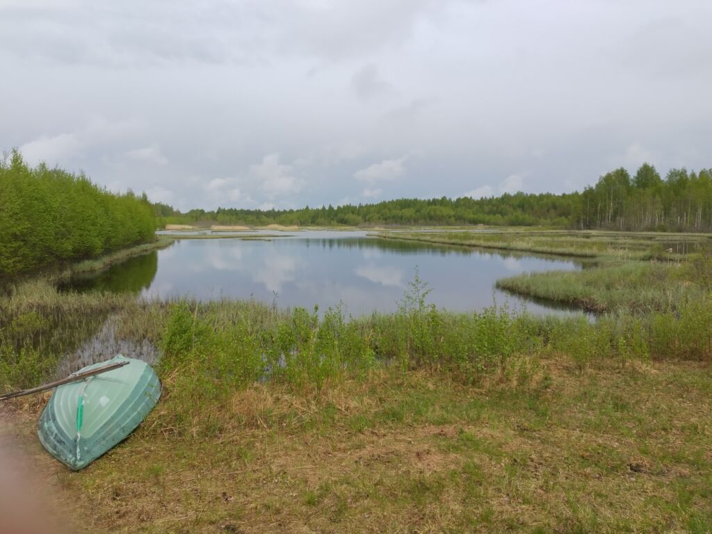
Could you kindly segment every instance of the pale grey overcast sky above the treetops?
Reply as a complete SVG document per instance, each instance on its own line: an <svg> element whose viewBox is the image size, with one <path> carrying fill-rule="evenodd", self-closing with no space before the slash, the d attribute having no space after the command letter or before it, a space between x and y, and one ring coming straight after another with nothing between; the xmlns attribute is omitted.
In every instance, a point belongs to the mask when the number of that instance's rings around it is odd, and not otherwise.
<svg viewBox="0 0 712 534"><path fill-rule="evenodd" d="M180 209L712 166L709 0L0 0L0 150Z"/></svg>

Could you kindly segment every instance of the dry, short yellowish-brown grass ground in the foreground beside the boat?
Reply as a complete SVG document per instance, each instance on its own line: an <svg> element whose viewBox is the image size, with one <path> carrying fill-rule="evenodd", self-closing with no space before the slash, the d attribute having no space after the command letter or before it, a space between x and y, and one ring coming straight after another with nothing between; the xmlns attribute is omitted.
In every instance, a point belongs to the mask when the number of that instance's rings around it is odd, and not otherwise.
<svg viewBox="0 0 712 534"><path fill-rule="evenodd" d="M46 474L90 532L712 525L708 365L608 360L582 372L556 356L541 373L525 388L427 372L378 372L321 395L254 384L221 407L214 436L177 437L157 409L84 471ZM27 430L39 407L19 407L28 417L15 431L46 459Z"/></svg>

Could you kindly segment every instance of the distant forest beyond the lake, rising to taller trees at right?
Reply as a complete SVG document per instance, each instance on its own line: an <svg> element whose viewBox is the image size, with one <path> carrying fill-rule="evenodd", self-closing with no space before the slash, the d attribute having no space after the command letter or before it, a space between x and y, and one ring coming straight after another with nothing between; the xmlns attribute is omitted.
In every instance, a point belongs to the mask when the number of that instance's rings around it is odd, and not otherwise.
<svg viewBox="0 0 712 534"><path fill-rule="evenodd" d="M181 213L154 204L159 226L225 224L263 226L475 225L554 226L571 229L712 231L712 169L671 169L663 179L644 163L631 176L624 168L607 172L583 192L518 192L500 197L397 199L303 209L219 208Z"/></svg>

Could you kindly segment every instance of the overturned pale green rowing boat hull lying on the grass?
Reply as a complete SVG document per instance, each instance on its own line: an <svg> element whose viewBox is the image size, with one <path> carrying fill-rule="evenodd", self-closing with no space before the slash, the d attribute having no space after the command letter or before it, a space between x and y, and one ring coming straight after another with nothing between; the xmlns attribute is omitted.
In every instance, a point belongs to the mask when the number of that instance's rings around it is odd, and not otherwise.
<svg viewBox="0 0 712 534"><path fill-rule="evenodd" d="M58 387L40 416L42 445L73 471L125 439L158 402L159 379L141 360L117 355L79 372L125 361L129 365Z"/></svg>

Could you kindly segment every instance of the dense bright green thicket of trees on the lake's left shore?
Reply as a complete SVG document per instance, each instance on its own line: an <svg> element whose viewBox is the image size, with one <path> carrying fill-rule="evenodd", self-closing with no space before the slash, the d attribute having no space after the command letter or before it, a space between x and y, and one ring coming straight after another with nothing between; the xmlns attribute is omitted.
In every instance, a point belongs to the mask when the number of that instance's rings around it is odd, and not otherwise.
<svg viewBox="0 0 712 534"><path fill-rule="evenodd" d="M92 258L154 233L145 195L112 194L46 164L29 167L16 150L0 158L0 275Z"/></svg>

